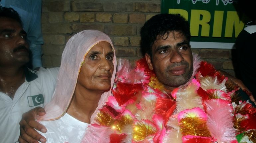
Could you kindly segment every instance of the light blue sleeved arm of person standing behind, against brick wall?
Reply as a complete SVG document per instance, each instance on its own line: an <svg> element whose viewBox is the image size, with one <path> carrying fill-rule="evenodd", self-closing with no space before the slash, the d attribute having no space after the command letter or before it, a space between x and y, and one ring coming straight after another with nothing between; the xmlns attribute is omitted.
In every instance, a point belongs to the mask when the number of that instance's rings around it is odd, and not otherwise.
<svg viewBox="0 0 256 143"><path fill-rule="evenodd" d="M42 1L33 0L32 18L27 32L27 38L30 42L30 50L32 52L33 69L42 66L42 44L43 35L41 28Z"/></svg>

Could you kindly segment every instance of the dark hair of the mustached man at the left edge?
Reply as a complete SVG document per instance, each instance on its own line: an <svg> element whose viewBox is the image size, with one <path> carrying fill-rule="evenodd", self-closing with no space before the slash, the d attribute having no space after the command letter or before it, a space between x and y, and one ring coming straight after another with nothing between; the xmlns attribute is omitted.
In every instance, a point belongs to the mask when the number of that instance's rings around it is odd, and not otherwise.
<svg viewBox="0 0 256 143"><path fill-rule="evenodd" d="M12 8L6 8L0 6L0 17L12 18L19 22L22 26L21 18L19 14Z"/></svg>

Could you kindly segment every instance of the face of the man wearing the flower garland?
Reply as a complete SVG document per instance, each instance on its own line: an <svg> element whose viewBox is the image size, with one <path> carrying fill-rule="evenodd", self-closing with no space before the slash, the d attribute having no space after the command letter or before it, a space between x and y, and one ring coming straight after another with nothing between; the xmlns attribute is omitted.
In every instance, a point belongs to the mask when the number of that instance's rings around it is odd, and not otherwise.
<svg viewBox="0 0 256 143"><path fill-rule="evenodd" d="M152 45L152 57L146 54L149 68L154 69L158 80L168 90L189 81L193 73L192 52L186 36L171 31Z"/></svg>

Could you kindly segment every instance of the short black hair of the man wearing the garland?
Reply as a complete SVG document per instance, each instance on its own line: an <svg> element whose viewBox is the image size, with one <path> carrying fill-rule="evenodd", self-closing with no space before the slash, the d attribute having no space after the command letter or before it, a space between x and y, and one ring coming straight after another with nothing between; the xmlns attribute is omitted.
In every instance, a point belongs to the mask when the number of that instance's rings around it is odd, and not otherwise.
<svg viewBox="0 0 256 143"><path fill-rule="evenodd" d="M159 14L150 18L141 28L141 49L143 55L152 57L152 45L160 38L166 39L171 31L183 33L190 41L189 22L178 14ZM167 37L164 37L165 34Z"/></svg>

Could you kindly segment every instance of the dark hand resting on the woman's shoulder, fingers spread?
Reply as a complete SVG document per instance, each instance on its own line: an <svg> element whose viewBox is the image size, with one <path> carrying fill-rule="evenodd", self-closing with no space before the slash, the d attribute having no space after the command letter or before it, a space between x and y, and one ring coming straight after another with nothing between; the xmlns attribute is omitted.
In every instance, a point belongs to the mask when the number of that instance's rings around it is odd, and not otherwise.
<svg viewBox="0 0 256 143"><path fill-rule="evenodd" d="M35 118L37 116L45 115L45 110L42 107L36 107L22 115L20 121L20 143L39 143L38 141L45 143L46 138L37 132L37 130L46 133L45 126L41 125Z"/></svg>

